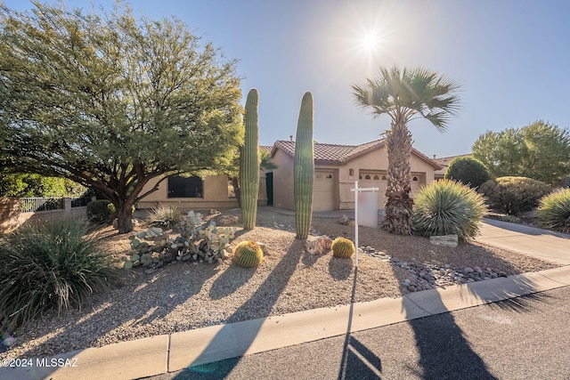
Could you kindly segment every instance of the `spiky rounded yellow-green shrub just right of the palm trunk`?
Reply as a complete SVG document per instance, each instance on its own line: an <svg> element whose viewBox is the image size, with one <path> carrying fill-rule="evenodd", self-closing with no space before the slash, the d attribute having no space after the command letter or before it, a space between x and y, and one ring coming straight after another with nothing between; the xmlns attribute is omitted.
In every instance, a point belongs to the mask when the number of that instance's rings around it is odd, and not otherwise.
<svg viewBox="0 0 570 380"><path fill-rule="evenodd" d="M419 191L411 217L411 228L420 236L476 236L485 214L485 199L460 182L432 182Z"/></svg>

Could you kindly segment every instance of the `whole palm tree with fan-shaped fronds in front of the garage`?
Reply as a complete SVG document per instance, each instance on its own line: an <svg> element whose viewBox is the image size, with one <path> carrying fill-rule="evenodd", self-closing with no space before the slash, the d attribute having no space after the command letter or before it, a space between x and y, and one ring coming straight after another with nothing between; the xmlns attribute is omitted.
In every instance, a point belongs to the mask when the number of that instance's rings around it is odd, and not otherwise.
<svg viewBox="0 0 570 380"><path fill-rule="evenodd" d="M379 77L364 85L353 85L354 99L362 108L372 109L374 117L387 114L388 155L387 202L382 228L395 234L411 234L413 208L411 190L411 133L408 123L419 117L428 119L444 132L449 117L459 109L453 94L459 89L452 80L423 68L380 68Z"/></svg>

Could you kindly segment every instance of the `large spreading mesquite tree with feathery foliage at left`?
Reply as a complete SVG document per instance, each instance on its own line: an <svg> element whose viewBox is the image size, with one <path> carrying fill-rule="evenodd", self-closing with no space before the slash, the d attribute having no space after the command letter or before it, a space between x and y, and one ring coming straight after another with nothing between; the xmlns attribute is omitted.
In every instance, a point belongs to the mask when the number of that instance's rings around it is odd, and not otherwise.
<svg viewBox="0 0 570 380"><path fill-rule="evenodd" d="M213 174L243 136L235 61L178 20L0 4L0 166L99 190L132 230L152 178Z"/></svg>

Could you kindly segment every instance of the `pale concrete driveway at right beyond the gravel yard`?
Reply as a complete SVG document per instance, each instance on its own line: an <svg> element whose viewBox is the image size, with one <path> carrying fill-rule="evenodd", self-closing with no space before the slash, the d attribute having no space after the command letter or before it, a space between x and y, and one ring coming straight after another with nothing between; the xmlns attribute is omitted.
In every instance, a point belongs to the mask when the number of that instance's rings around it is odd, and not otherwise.
<svg viewBox="0 0 570 380"><path fill-rule="evenodd" d="M485 218L476 241L545 261L570 265L570 235L565 233Z"/></svg>

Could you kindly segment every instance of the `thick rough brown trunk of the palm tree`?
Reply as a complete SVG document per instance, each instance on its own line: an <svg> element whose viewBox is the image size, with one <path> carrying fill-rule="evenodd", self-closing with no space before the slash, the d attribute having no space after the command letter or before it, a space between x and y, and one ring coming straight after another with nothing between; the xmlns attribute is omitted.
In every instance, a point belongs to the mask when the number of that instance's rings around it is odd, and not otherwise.
<svg viewBox="0 0 570 380"><path fill-rule="evenodd" d="M387 133L387 202L382 228L397 235L411 235L411 133L404 122L395 121Z"/></svg>

